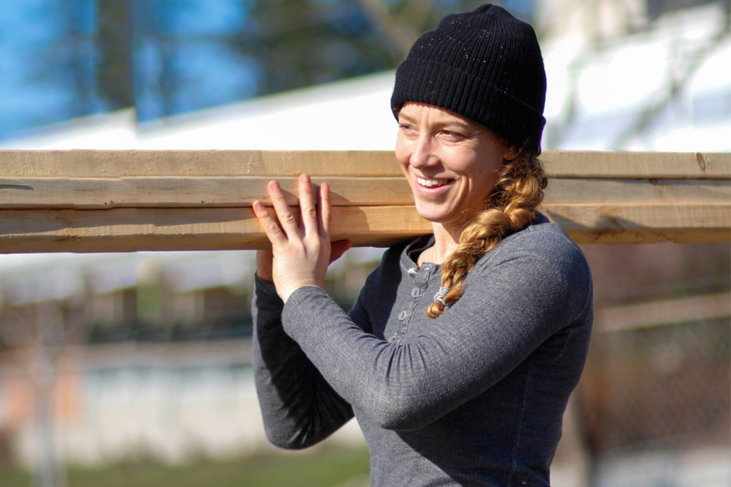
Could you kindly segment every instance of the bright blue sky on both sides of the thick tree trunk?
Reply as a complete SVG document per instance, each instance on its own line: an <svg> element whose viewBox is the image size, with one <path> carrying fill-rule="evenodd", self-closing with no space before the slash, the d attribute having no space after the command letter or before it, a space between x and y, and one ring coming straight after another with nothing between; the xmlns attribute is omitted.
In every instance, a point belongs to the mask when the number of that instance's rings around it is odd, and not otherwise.
<svg viewBox="0 0 731 487"><path fill-rule="evenodd" d="M4 3L0 138L109 110L94 80L94 9L94 0ZM136 1L133 45L140 119L253 96L256 65L221 42L246 17L245 5L237 0ZM176 80L165 106L159 92L163 70Z"/></svg>

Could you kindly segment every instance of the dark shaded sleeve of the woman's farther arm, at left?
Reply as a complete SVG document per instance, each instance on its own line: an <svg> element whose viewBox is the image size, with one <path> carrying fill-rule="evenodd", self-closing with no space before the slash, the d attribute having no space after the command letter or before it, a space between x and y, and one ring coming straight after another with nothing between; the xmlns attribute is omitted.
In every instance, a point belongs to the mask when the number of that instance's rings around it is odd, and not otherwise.
<svg viewBox="0 0 731 487"><path fill-rule="evenodd" d="M270 442L281 448L307 448L333 434L353 412L284 333L282 306L274 284L255 277L254 382Z"/></svg>

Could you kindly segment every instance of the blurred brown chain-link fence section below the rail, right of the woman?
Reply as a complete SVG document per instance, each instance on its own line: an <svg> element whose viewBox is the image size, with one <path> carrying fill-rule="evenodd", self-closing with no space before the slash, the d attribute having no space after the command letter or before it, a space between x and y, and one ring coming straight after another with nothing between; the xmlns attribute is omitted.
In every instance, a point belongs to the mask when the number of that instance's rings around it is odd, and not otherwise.
<svg viewBox="0 0 731 487"><path fill-rule="evenodd" d="M578 390L588 445L728 445L730 340L727 317L596 333Z"/></svg>

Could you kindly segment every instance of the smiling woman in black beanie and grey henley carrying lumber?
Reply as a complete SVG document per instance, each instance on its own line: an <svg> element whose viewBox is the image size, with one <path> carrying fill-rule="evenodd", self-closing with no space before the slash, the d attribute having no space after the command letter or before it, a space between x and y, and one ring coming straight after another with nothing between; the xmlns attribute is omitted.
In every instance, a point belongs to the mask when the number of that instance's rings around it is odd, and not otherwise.
<svg viewBox="0 0 731 487"><path fill-rule="evenodd" d="M534 31L499 7L417 40L395 154L433 235L388 249L349 314L322 290L348 246L330 245L327 185L317 209L300 178L298 222L270 183L254 374L271 442L306 448L355 415L374 486L548 486L592 303L580 250L536 211L544 101Z"/></svg>

